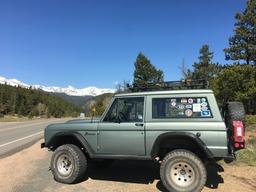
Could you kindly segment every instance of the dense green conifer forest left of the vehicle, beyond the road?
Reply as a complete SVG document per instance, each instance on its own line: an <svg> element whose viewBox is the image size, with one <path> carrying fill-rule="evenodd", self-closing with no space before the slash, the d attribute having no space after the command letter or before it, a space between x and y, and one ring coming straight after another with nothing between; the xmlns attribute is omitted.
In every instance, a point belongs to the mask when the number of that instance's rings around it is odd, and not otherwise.
<svg viewBox="0 0 256 192"><path fill-rule="evenodd" d="M0 85L0 119L78 116L81 109L46 92ZM4 121L4 120L3 120Z"/></svg>

